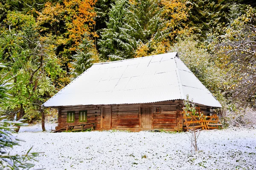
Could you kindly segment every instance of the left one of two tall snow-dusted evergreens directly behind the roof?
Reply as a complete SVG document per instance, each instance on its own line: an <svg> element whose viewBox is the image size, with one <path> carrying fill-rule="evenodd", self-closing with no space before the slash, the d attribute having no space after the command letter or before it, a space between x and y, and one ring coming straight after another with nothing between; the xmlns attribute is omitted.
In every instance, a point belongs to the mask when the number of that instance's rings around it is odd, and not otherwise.
<svg viewBox="0 0 256 170"><path fill-rule="evenodd" d="M137 43L126 33L124 18L127 15L128 0L118 0L111 6L107 28L102 29L102 39L98 42L101 57L107 60L131 58Z"/></svg>

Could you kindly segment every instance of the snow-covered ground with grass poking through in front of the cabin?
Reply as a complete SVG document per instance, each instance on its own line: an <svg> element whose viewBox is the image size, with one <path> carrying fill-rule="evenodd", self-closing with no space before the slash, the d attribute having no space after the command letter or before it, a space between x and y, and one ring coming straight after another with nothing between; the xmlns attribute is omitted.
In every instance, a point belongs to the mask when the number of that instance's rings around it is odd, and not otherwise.
<svg viewBox="0 0 256 170"><path fill-rule="evenodd" d="M198 153L191 153L187 133L49 133L34 125L17 136L26 142L14 150L44 152L36 167L46 170L256 169L256 129L202 131Z"/></svg>

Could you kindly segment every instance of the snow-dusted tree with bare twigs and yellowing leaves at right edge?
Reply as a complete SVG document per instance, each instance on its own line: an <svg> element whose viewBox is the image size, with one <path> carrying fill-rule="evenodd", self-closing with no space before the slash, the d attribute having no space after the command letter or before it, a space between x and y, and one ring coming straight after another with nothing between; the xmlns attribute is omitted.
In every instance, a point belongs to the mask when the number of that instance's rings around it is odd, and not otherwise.
<svg viewBox="0 0 256 170"><path fill-rule="evenodd" d="M243 106L253 107L256 97L256 13L247 12L227 26L224 35L217 36L215 51L229 70L232 96Z"/></svg>

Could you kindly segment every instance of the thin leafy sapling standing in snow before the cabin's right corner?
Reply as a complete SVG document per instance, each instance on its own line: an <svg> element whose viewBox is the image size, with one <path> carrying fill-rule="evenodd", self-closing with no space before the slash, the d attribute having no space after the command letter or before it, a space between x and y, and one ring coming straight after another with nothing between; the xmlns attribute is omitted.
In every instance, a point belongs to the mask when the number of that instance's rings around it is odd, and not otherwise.
<svg viewBox="0 0 256 170"><path fill-rule="evenodd" d="M195 103L193 103L193 99L189 101L189 95L186 95L186 100L184 102L183 110L185 111L184 114L186 116L192 115L192 116L198 116L198 119L201 119L203 114L201 112L197 112ZM189 140L191 141L191 147L195 149L195 152L198 151L198 137L200 135L201 129L195 128L196 123L192 123L193 127L191 130L189 130Z"/></svg>

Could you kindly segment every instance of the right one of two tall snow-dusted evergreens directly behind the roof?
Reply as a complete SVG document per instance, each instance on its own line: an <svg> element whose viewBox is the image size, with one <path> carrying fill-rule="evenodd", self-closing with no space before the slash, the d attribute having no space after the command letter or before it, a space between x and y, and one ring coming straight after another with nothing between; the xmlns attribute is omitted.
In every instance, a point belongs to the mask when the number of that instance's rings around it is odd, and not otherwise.
<svg viewBox="0 0 256 170"><path fill-rule="evenodd" d="M159 42L168 29L165 29L163 11L159 0L133 0L125 17L127 33L135 38L137 45ZM131 19L133 18L133 19Z"/></svg>

